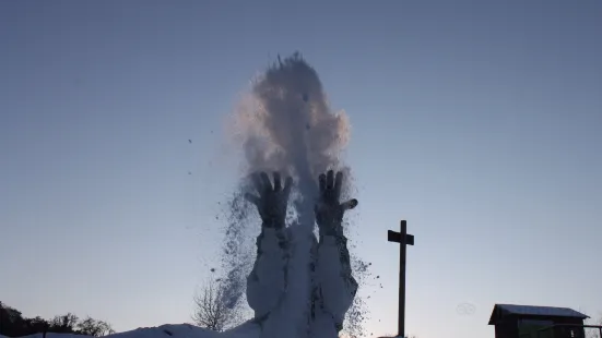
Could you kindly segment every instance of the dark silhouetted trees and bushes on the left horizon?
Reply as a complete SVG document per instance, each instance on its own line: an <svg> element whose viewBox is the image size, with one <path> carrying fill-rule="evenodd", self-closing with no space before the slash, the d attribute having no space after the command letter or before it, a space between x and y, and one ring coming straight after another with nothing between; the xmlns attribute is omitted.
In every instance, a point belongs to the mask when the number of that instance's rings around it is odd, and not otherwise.
<svg viewBox="0 0 602 338"><path fill-rule="evenodd" d="M80 319L72 313L58 315L49 321L39 316L26 318L21 311L0 302L0 335L22 337L47 333L102 337L115 334L115 330L106 322L91 317Z"/></svg>

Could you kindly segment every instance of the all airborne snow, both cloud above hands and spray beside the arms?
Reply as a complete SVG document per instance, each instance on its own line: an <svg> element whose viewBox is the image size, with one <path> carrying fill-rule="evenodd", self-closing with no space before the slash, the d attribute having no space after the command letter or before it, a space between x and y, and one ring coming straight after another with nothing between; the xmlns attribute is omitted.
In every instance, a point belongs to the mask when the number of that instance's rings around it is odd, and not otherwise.
<svg viewBox="0 0 602 338"><path fill-rule="evenodd" d="M296 227L296 231L314 231L316 178L320 173L328 169L344 171L346 186L343 194L349 194L350 168L340 160L350 140L349 118L344 111L333 113L330 110L318 73L299 53L283 61L279 58L275 64L255 79L229 122L228 134L244 156L245 178L256 171L278 170L295 179L297 191L292 196L287 224ZM224 210L228 221L222 265L227 271L224 278L227 291L224 293L231 306L246 303L245 278L252 267L255 237L260 230L253 206L243 198L246 184L243 179ZM353 217L353 213L349 217ZM305 266L309 258L307 254L291 264ZM367 265L354 258L354 265L361 267L354 275L361 282L363 276L357 275L367 274ZM298 278L304 282L303 276ZM350 309L349 322L361 324L364 313L358 309L361 304L362 300L356 298L356 306Z"/></svg>

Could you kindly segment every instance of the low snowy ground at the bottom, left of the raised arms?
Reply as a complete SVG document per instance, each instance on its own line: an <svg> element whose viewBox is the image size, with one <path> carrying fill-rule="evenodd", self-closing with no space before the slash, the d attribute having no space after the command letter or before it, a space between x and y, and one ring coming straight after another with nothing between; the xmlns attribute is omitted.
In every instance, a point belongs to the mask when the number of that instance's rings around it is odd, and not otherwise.
<svg viewBox="0 0 602 338"><path fill-rule="evenodd" d="M166 324L157 327L142 327L131 331L105 336L107 338L252 338L259 337L257 326L243 324L224 333L215 333L190 324ZM8 338L0 336L0 338ZM25 336L22 338L43 338L42 334ZM94 338L90 336L72 334L46 334L46 338Z"/></svg>

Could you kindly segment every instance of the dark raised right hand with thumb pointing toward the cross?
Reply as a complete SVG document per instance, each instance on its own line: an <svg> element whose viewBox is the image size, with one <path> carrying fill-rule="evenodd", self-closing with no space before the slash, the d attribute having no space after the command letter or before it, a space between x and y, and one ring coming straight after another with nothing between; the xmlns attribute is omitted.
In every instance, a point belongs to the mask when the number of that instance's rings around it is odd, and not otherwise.
<svg viewBox="0 0 602 338"><path fill-rule="evenodd" d="M343 185L343 173L328 171L328 174L320 174L320 197L315 207L316 222L320 230L320 236L342 234L343 214L346 210L357 206L357 200L352 198L344 203L339 203L341 197L341 188Z"/></svg>

